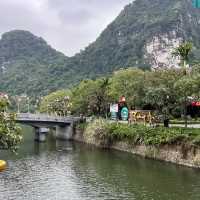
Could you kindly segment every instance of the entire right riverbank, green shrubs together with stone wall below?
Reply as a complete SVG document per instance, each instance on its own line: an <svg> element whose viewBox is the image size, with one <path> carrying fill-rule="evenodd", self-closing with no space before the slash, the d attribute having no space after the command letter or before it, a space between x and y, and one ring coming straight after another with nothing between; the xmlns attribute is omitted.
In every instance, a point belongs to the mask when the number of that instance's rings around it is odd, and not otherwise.
<svg viewBox="0 0 200 200"><path fill-rule="evenodd" d="M200 130L151 128L94 120L76 129L74 140L145 158L200 168Z"/></svg>

